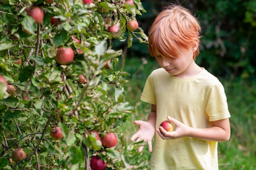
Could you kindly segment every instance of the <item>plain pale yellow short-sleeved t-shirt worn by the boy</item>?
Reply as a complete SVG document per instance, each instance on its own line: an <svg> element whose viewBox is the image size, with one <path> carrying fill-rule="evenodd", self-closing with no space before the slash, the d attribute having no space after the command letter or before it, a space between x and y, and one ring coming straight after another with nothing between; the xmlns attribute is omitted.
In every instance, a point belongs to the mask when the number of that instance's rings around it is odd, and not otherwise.
<svg viewBox="0 0 256 170"><path fill-rule="evenodd" d="M220 81L202 71L191 78L176 78L163 68L148 77L141 100L157 105L156 128L171 116L194 128L211 127L211 121L230 117ZM155 134L149 161L151 170L218 170L218 142L192 137L163 140Z"/></svg>

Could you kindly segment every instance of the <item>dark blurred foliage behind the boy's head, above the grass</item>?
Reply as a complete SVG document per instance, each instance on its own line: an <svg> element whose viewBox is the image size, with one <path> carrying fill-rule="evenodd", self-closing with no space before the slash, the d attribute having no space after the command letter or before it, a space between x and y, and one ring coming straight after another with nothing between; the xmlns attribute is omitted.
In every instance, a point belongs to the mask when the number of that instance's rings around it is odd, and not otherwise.
<svg viewBox="0 0 256 170"><path fill-rule="evenodd" d="M181 4L202 26L200 55L196 62L216 76L236 76L255 81L256 1L255 0L144 0L147 13L137 17L145 33L156 15L168 3ZM115 44L125 46L125 44ZM118 47L119 47L118 46ZM129 57L149 56L147 46L135 41Z"/></svg>

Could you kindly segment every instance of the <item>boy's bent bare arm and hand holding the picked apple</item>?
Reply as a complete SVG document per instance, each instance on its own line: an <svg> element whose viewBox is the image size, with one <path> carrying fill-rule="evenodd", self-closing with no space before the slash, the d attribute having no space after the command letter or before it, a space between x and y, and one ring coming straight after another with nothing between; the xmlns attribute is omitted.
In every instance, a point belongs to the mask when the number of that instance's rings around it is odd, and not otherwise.
<svg viewBox="0 0 256 170"><path fill-rule="evenodd" d="M175 131L167 132L162 127L156 129L162 139L177 139L180 137L194 137L206 141L225 142L230 138L229 118L212 122L209 128L192 128L168 116L168 120L175 124Z"/></svg>

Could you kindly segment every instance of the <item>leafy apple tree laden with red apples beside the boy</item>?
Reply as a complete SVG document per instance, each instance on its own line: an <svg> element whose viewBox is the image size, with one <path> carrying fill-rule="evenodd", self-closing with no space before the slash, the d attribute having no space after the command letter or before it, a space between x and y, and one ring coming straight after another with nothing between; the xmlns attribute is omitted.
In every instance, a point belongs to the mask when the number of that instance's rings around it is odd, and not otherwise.
<svg viewBox="0 0 256 170"><path fill-rule="evenodd" d="M147 43L140 0L0 1L0 169L146 169L115 40ZM126 24L134 20L135 25Z"/></svg>

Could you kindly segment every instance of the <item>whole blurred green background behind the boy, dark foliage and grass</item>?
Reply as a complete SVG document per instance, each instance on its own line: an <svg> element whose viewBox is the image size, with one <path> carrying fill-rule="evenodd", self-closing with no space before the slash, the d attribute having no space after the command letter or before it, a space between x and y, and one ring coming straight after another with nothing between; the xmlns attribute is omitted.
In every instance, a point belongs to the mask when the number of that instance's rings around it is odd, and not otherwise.
<svg viewBox="0 0 256 170"><path fill-rule="evenodd" d="M148 33L157 13L168 3L182 4L195 13L202 26L200 55L196 63L214 74L225 87L231 113L231 138L219 143L220 170L256 169L256 0L141 0L146 13L137 17L139 26ZM126 100L137 109L124 125L130 137L137 131L134 120L146 120L150 105L139 100L146 78L159 65L148 53L147 44L133 39L114 41L115 48L125 53L117 65L130 73L124 88ZM148 147L142 155L148 160Z"/></svg>

